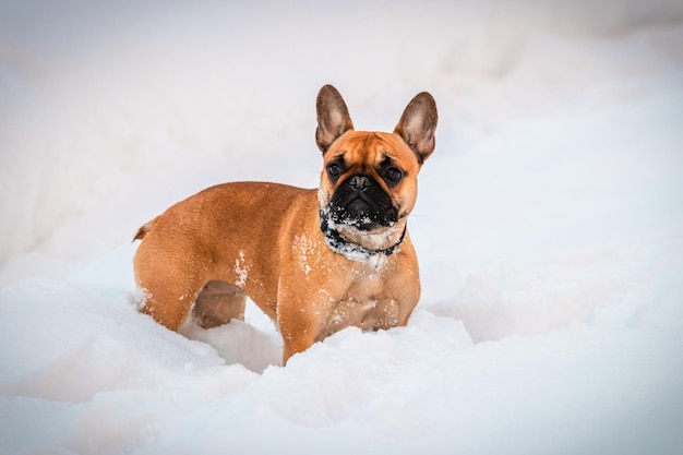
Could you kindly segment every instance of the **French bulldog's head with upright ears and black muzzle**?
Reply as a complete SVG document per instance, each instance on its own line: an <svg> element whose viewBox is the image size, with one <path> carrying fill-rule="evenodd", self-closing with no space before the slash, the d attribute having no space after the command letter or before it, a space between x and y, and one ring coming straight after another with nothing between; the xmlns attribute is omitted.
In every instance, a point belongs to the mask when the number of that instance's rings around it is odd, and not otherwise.
<svg viewBox="0 0 683 455"><path fill-rule="evenodd" d="M321 88L316 108L323 230L370 251L396 246L415 206L418 172L434 151L434 98L427 92L412 98L393 133L355 131L332 85Z"/></svg>

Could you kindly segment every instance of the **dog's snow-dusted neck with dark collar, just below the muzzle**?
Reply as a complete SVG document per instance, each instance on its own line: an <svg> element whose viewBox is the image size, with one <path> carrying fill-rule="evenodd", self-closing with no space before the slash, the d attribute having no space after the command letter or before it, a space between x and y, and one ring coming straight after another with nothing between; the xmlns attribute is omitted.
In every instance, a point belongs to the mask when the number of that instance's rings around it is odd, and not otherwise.
<svg viewBox="0 0 683 455"><path fill-rule="evenodd" d="M332 251L347 259L380 265L396 253L406 238L406 224L398 223L380 232L368 232L352 226L334 224L321 213L321 230Z"/></svg>

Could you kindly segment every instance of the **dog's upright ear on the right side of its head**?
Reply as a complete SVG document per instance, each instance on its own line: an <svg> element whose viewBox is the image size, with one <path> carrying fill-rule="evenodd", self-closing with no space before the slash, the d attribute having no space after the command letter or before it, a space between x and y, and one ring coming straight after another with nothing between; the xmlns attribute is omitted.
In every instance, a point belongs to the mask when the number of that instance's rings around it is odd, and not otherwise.
<svg viewBox="0 0 683 455"><path fill-rule="evenodd" d="M434 152L436 130L436 103L427 92L419 93L406 107L394 133L400 135L412 148L420 164Z"/></svg>

